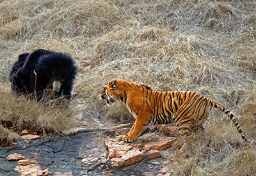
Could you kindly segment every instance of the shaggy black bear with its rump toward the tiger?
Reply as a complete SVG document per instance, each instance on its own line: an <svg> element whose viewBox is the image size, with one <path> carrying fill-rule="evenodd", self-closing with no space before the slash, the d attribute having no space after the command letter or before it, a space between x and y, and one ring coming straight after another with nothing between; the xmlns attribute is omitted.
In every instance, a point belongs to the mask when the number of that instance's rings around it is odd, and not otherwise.
<svg viewBox="0 0 256 176"><path fill-rule="evenodd" d="M54 98L71 97L77 66L71 55L38 49L19 55L10 72L12 92L32 94L39 101L46 89Z"/></svg>

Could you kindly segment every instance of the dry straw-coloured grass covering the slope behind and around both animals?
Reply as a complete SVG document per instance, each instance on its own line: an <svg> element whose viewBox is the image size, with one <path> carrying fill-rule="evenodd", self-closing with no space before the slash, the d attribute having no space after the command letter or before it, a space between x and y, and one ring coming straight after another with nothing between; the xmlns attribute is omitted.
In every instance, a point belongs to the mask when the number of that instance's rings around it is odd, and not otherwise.
<svg viewBox="0 0 256 176"><path fill-rule="evenodd" d="M74 101L88 118L133 121L124 107L108 111L99 99L106 82L129 80L159 91L197 91L220 101L255 139L255 1L0 2L4 85L21 52L38 47L69 52L80 66ZM3 96L8 92L1 89ZM12 112L9 106L4 111ZM196 136L192 156L175 158L177 175L256 174L255 148L244 146L225 114L213 110L205 131Z"/></svg>

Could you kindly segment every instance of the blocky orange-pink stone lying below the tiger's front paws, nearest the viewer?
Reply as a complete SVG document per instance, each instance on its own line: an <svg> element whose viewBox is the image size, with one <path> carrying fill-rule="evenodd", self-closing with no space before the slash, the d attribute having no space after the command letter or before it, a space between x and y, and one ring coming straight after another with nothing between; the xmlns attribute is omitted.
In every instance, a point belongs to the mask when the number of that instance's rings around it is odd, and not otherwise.
<svg viewBox="0 0 256 176"><path fill-rule="evenodd" d="M127 151L124 156L121 158L123 160L124 165L133 165L134 163L138 163L143 159L143 153L136 149L136 150L129 150Z"/></svg>

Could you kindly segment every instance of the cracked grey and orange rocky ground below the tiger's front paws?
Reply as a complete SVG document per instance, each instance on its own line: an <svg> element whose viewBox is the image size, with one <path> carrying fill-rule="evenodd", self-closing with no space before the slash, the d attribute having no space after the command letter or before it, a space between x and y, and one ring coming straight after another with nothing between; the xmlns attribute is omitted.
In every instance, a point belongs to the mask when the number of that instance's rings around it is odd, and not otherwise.
<svg viewBox="0 0 256 176"><path fill-rule="evenodd" d="M83 128L30 140L22 136L11 147L0 149L3 175L170 175L170 159L161 157L172 146L169 136L145 133L136 143L115 139L129 127L99 131ZM172 136L170 136L172 135ZM37 137L37 136L36 136ZM24 139L25 138L25 139Z"/></svg>

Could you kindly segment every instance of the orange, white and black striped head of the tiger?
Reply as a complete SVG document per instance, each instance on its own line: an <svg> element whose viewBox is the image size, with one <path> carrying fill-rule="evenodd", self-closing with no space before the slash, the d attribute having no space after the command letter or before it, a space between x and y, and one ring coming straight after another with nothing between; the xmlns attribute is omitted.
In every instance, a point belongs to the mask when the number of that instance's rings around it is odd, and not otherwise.
<svg viewBox="0 0 256 176"><path fill-rule="evenodd" d="M115 101L122 99L122 82L113 80L104 85L101 98L106 99L107 105L111 106Z"/></svg>

